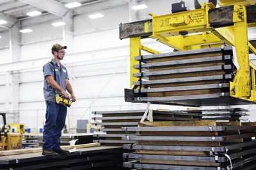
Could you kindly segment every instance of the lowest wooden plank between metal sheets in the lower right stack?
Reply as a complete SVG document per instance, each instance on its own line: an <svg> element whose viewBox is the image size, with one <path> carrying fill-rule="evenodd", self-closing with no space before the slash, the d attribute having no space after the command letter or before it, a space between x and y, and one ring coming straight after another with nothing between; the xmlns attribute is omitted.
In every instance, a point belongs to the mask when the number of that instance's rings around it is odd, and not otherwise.
<svg viewBox="0 0 256 170"><path fill-rule="evenodd" d="M216 162L201 162L189 160L161 160L161 159L140 159L140 163L148 164L168 164L168 165L186 165L186 166L220 166Z"/></svg>

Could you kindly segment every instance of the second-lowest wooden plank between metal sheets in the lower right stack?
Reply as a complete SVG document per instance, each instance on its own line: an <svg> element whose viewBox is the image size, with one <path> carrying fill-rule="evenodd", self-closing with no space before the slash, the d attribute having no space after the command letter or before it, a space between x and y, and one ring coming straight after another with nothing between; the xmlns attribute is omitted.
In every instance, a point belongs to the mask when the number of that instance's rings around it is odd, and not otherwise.
<svg viewBox="0 0 256 170"><path fill-rule="evenodd" d="M210 152L194 150L136 150L136 153L152 155L210 156Z"/></svg>

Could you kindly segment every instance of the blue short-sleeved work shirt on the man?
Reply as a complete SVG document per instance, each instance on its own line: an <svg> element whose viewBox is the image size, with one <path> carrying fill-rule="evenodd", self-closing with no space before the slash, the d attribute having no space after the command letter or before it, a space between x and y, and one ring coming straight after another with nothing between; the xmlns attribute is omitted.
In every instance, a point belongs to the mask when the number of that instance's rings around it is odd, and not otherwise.
<svg viewBox="0 0 256 170"><path fill-rule="evenodd" d="M51 62L54 64L54 68L55 68L55 72L56 72L56 80L55 81L57 81L58 85L60 85L60 87L66 91L66 79L69 80L66 67L64 67L61 63L60 63L60 67L59 67L58 63L54 59L52 59ZM53 70L52 64L49 62L44 64L43 72L44 72L44 99L45 99L45 101L56 102L55 89L53 89L51 87L51 85L48 83L48 81L46 79L47 75L52 76L54 79L54 70ZM57 91L57 92L59 94L61 94L60 91Z"/></svg>

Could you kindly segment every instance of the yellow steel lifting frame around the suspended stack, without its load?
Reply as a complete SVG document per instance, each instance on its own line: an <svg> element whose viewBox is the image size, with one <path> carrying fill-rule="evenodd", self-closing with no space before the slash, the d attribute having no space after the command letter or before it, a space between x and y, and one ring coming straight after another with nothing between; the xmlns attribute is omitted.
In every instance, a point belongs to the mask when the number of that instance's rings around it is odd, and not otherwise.
<svg viewBox="0 0 256 170"><path fill-rule="evenodd" d="M234 81L230 81L230 96L255 101L255 66L249 66L248 48L256 54L256 49L248 43L247 18L244 4L234 5L233 22L234 26L220 27L214 29L209 24L208 11L215 8L212 3L202 4L198 10L183 11L168 15L152 16L152 36L157 41L171 46L176 50L195 50L221 46L223 44L236 46L237 62L239 70ZM253 24L255 25L255 24ZM253 26L251 24L251 26ZM184 31L185 30L185 31ZM148 25L145 23L145 32ZM202 32L199 34L193 34ZM141 37L130 38L131 49L131 89L134 89L133 82L139 78L133 77L133 73L140 70L134 69L134 64L140 64L134 57L141 54L141 50L150 53L159 53L155 50L141 45ZM253 71L252 71L253 69ZM250 74L250 71L252 74ZM253 80L251 81L250 76ZM250 86L250 81L253 87Z"/></svg>

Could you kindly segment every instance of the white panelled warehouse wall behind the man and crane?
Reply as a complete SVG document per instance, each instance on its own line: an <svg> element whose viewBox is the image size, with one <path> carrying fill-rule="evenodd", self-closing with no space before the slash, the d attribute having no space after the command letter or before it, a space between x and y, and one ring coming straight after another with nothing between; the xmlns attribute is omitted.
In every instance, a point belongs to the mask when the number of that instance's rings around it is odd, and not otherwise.
<svg viewBox="0 0 256 170"><path fill-rule="evenodd" d="M179 0L148 0L148 8L140 12L140 19L150 18L148 13L164 15L172 10L171 3ZM193 2L189 2L193 10ZM67 53L63 64L70 71L70 81L77 97L77 102L68 108L67 125L76 127L76 120L89 119L91 111L145 109L146 104L124 102L124 88L129 89L129 39L119 39L118 25L129 22L127 5L116 6L100 11L103 18L88 18L94 11L74 16L73 52ZM95 11L97 12L97 11ZM21 34L20 63L26 69L19 70L19 123L36 131L42 128L45 121L45 102L43 97L42 66L51 60L51 46L62 43L62 28L53 27L51 23L58 20L52 17L41 24L35 24L40 17L21 21L22 28L29 27L33 32ZM251 31L253 32L253 31ZM0 67L9 66L11 62L8 49L8 31L0 32ZM159 52L172 52L172 48L157 43L154 39L143 39L143 45ZM144 53L144 52L143 52ZM5 63L5 64L4 64ZM19 65L18 63L18 65ZM17 68L15 68L17 69ZM76 78L74 80L72 75ZM5 94L5 73L0 73L0 93ZM97 99L95 100L95 98ZM5 96L0 97L0 111L4 110ZM166 108L171 110L186 109L179 106L159 106L152 104L152 109ZM248 106L244 106L248 108ZM251 106L250 110L256 110ZM252 114L252 118L255 118ZM13 115L8 123L13 123Z"/></svg>

